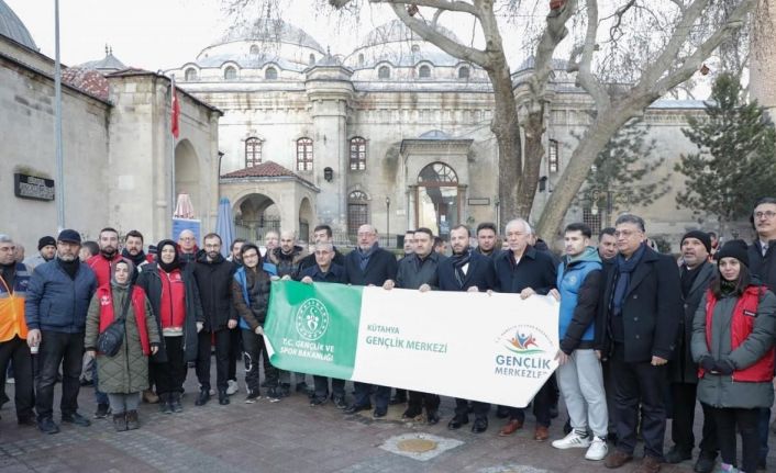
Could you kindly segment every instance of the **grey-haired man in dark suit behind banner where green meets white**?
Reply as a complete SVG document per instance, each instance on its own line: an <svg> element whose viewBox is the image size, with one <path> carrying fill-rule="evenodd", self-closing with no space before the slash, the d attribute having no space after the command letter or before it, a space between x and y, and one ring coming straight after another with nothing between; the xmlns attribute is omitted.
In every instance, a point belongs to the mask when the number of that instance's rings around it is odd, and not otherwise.
<svg viewBox="0 0 776 473"><path fill-rule="evenodd" d="M346 280L353 285L383 285L387 280L396 280L398 263L392 252L378 246L377 230L369 224L358 227L358 247L345 256ZM345 414L355 414L372 408L372 390L375 387L376 418L388 413L390 387L354 383L355 401Z"/></svg>

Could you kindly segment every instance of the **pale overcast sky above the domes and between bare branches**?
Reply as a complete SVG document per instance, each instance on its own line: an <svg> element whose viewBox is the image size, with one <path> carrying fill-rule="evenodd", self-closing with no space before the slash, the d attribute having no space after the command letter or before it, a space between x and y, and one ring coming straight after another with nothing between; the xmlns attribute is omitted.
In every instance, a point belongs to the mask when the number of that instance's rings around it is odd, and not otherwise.
<svg viewBox="0 0 776 473"><path fill-rule="evenodd" d="M54 57L54 0L5 0L30 30L41 52ZM293 0L281 16L301 27L332 53L347 54L375 26L396 16L385 5L367 7L356 25L335 27L335 19L313 4ZM229 22L219 0L60 0L62 61L73 66L104 57L106 44L128 66L169 69L193 60L214 43ZM354 22L355 23L355 22ZM470 24L447 24L465 37ZM344 31L344 33L343 33Z"/></svg>

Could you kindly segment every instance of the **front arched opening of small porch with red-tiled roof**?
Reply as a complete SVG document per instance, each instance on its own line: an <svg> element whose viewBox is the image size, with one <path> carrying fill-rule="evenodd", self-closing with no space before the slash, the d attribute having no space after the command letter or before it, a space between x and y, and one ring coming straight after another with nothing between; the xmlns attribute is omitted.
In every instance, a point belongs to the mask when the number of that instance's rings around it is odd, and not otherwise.
<svg viewBox="0 0 776 473"><path fill-rule="evenodd" d="M232 214L239 238L263 243L267 232L280 232L280 209L267 194L246 191L234 201Z"/></svg>

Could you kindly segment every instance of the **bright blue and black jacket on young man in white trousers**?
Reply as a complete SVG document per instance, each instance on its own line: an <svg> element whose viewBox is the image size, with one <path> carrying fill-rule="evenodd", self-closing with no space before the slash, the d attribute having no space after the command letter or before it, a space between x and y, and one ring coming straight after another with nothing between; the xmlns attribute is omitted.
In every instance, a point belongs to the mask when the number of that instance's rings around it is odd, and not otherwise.
<svg viewBox="0 0 776 473"><path fill-rule="evenodd" d="M558 336L561 349L570 354L577 348L596 348L596 315L600 292L601 258L595 247L587 247L576 258L566 256L557 268L561 293Z"/></svg>

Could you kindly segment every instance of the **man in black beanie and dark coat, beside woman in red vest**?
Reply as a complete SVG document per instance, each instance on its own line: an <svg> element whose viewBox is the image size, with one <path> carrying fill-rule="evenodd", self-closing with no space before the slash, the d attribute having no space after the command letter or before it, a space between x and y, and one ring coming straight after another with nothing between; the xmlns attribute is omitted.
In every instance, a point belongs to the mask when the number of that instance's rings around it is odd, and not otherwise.
<svg viewBox="0 0 776 473"><path fill-rule="evenodd" d="M714 277L714 264L709 262L711 238L701 230L688 232L681 238L681 258L684 263L679 268L681 280L681 295L685 301L684 318L679 320L679 333L676 337L676 354L668 362L670 375L670 393L673 421L670 424L670 438L674 447L666 453L668 463L679 463L692 458L695 436L695 403L698 390L698 365L692 362L690 342L692 339L692 317L709 289L709 283ZM717 458L717 431L713 415L709 406L703 408L703 438L700 441L700 455L695 465L695 471L709 473L714 468Z"/></svg>

